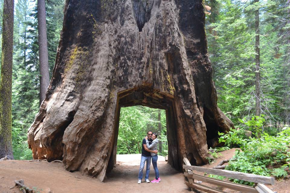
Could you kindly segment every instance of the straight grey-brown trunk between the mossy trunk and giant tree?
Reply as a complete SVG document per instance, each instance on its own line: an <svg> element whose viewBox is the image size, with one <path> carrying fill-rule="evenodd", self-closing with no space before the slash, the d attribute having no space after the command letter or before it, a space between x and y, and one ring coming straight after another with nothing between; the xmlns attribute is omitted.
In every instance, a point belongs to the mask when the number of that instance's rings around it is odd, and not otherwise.
<svg viewBox="0 0 290 193"><path fill-rule="evenodd" d="M39 47L39 71L40 71L40 85L39 85L40 86L39 106L40 106L45 98L47 87L49 86L45 0L37 0L37 20L38 20L38 47Z"/></svg>

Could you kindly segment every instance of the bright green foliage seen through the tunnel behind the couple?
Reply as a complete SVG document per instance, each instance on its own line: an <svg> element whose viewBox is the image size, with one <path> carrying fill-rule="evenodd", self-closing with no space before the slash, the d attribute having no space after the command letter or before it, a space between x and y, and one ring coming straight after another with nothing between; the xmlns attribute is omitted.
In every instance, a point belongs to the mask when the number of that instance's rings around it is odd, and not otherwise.
<svg viewBox="0 0 290 193"><path fill-rule="evenodd" d="M145 106L122 107L120 112L117 154L141 153L142 139L147 131L159 138L159 154L167 155L166 113L164 109ZM160 142L161 141L161 142Z"/></svg>

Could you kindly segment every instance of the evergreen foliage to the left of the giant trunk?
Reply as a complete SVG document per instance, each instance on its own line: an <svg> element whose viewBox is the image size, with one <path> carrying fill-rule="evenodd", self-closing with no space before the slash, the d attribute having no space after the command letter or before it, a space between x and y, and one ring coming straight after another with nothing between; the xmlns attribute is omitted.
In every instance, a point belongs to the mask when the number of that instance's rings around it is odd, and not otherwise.
<svg viewBox="0 0 290 193"><path fill-rule="evenodd" d="M47 1L47 37L50 77L60 39L64 1ZM27 130L39 108L37 7L35 1L15 5L12 86L12 138L15 159L32 159Z"/></svg>

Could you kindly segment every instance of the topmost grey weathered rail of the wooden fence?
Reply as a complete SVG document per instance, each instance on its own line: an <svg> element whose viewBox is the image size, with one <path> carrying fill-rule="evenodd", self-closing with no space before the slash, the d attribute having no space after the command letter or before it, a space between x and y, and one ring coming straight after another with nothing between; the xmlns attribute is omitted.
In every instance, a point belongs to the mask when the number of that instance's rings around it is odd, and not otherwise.
<svg viewBox="0 0 290 193"><path fill-rule="evenodd" d="M235 172L235 171L230 171L230 170L210 169L210 168L203 168L203 167L198 167L198 166L187 166L187 165L183 165L183 168L196 170L199 172L205 172L208 174L214 174L218 176L225 176L228 178L235 178L239 180L255 182L255 183L271 184L271 185L274 185L275 183L275 179L272 177L259 176L256 174L248 174L248 173Z"/></svg>

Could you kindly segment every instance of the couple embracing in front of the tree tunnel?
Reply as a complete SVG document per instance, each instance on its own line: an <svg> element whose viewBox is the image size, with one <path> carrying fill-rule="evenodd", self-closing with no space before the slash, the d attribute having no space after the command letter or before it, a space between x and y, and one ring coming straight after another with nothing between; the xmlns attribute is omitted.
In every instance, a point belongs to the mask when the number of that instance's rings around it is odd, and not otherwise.
<svg viewBox="0 0 290 193"><path fill-rule="evenodd" d="M145 137L142 141L142 154L141 154L141 162L139 168L139 176L138 176L138 184L141 184L143 178L143 169L146 162L146 176L145 182L149 183L149 172L152 158L152 165L155 170L155 179L152 180L152 183L159 183L161 179L159 178L159 171L157 168L157 147L158 147L158 139L157 134L152 131L147 131L147 137Z"/></svg>

